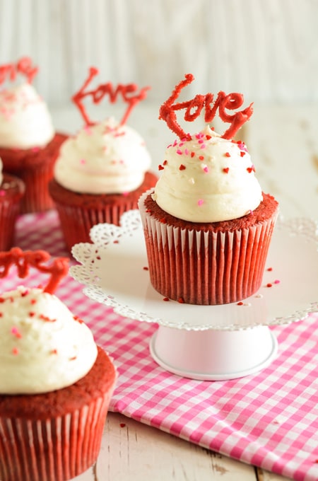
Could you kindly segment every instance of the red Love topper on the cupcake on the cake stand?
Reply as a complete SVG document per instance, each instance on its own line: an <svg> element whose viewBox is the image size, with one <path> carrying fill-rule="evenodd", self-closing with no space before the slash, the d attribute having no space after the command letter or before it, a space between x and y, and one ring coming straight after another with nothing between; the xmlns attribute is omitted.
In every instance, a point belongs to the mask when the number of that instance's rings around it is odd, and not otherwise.
<svg viewBox="0 0 318 481"><path fill-rule="evenodd" d="M229 93L226 95L222 91L218 93L214 103L213 93L206 93L206 95L198 94L192 100L175 103L175 100L177 100L182 88L189 85L189 83L192 83L192 81L194 81L194 76L192 74L187 74L185 79L180 81L177 86L175 86L175 90L172 91L170 97L160 107L159 119L165 120L165 122L167 122L167 126L172 130L172 132L175 132L180 139L187 139L189 134L186 134L177 123L177 115L175 114L175 110L186 109L184 120L187 122L193 122L197 117L199 117L201 110L204 108L204 120L207 123L213 120L213 118L216 116L216 110L218 110L220 119L223 120L223 122L230 123L230 127L224 132L222 137L223 139L232 139L237 130L242 127L242 124L244 124L247 120L249 120L249 117L251 117L253 113L253 104L251 103L249 107L241 110L240 112L229 115L227 112L225 112L225 110L235 110L240 108L244 98L242 93Z"/></svg>

